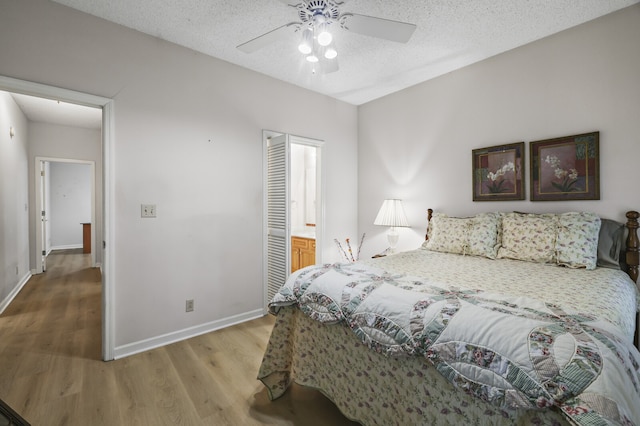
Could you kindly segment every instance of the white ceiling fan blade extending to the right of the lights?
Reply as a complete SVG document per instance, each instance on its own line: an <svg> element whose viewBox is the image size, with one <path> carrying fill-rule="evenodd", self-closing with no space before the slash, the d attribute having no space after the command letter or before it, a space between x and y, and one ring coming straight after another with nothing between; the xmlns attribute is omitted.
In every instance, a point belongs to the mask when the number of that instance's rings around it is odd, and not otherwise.
<svg viewBox="0 0 640 426"><path fill-rule="evenodd" d="M345 13L340 17L343 28L354 33L406 43L409 41L416 25L407 22L391 21L373 16Z"/></svg>

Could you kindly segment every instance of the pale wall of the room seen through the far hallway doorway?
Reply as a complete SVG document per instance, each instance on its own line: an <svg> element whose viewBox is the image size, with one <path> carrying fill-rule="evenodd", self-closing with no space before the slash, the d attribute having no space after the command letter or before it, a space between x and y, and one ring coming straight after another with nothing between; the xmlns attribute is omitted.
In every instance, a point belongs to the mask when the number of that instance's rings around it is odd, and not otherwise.
<svg viewBox="0 0 640 426"><path fill-rule="evenodd" d="M52 162L49 173L52 248L82 247L82 223L91 223L91 166Z"/></svg>

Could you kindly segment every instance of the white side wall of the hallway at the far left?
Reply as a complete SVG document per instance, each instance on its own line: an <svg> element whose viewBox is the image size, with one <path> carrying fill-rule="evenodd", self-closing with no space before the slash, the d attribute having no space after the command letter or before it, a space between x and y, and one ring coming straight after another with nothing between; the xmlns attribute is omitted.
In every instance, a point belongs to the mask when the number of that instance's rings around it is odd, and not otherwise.
<svg viewBox="0 0 640 426"><path fill-rule="evenodd" d="M0 312L30 276L28 136L26 117L0 92Z"/></svg>

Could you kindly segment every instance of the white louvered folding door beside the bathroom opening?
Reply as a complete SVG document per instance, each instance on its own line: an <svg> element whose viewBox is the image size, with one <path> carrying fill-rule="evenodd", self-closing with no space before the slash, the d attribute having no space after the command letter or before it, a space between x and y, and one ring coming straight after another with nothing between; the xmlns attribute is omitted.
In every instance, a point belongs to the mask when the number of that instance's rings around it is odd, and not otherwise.
<svg viewBox="0 0 640 426"><path fill-rule="evenodd" d="M289 141L287 135L267 142L267 300L271 300L288 276Z"/></svg>

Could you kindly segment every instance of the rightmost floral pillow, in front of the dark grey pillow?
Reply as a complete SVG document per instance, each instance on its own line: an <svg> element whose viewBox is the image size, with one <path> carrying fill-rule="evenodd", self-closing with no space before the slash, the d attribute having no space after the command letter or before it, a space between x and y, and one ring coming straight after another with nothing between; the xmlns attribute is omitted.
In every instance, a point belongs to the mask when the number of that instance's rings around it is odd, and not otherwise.
<svg viewBox="0 0 640 426"><path fill-rule="evenodd" d="M563 213L558 218L558 265L595 269L598 262L600 218L595 213L588 212Z"/></svg>

